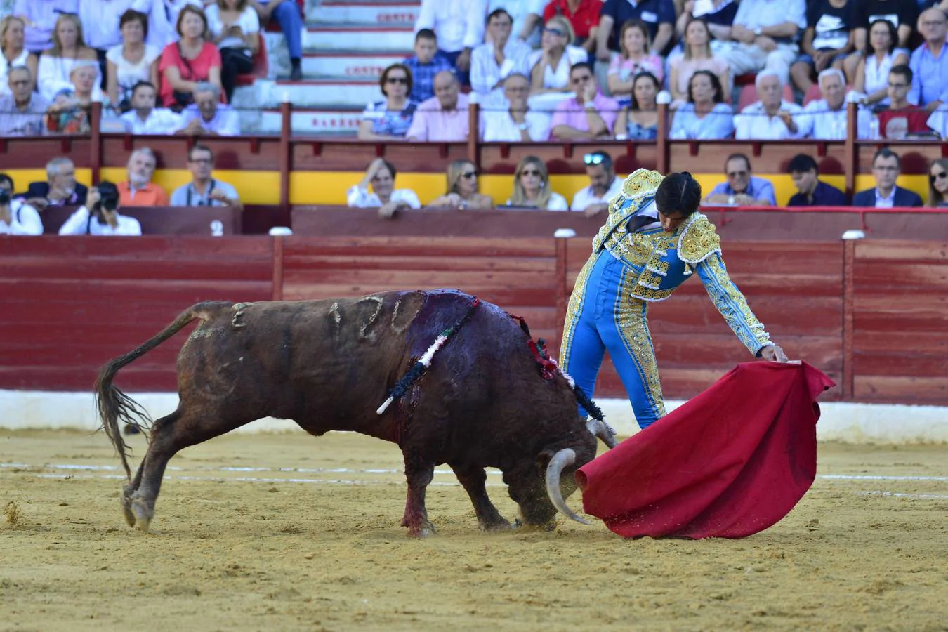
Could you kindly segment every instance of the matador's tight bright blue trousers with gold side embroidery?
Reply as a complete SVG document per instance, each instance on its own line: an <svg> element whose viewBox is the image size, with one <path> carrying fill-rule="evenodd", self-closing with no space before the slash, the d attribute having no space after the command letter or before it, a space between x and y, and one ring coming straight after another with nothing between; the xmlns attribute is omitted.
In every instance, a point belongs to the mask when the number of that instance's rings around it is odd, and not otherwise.
<svg viewBox="0 0 948 632"><path fill-rule="evenodd" d="M593 397L608 350L635 421L645 428L665 415L665 403L648 333L648 303L630 294L637 279L635 271L605 250L586 262L566 311L559 360L576 385ZM586 411L580 406L579 413Z"/></svg>

